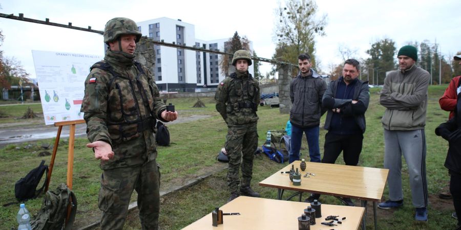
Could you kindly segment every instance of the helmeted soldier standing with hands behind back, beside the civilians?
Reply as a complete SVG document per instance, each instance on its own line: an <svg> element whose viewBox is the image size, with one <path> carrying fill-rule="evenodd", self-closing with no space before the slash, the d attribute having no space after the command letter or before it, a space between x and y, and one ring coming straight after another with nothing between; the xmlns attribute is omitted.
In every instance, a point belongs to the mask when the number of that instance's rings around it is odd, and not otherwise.
<svg viewBox="0 0 461 230"><path fill-rule="evenodd" d="M258 146L256 111L261 100L259 85L248 73L248 66L252 65L248 51L236 51L232 65L236 67L236 72L220 83L215 95L216 110L221 114L228 128L224 148L229 158L227 182L231 197L227 202L240 194L259 197L259 194L250 187L253 158ZM242 182L239 193L240 164L242 164Z"/></svg>

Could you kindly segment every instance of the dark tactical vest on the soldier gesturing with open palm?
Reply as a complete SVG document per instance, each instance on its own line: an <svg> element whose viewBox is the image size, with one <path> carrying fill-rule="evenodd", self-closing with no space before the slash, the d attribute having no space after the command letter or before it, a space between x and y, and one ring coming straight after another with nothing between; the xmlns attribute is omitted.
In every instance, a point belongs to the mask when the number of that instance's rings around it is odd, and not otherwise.
<svg viewBox="0 0 461 230"><path fill-rule="evenodd" d="M107 126L111 139L118 142L138 137L144 130L154 131L155 119L152 112L154 111L154 98L155 95L158 95L158 88L149 84L141 64L137 61L134 64L138 70L136 81L120 76L107 62L96 62L91 66L91 70L100 68L112 75L112 78L107 82ZM146 114L141 114L135 94L136 88L133 84L136 84L142 104L148 110Z"/></svg>

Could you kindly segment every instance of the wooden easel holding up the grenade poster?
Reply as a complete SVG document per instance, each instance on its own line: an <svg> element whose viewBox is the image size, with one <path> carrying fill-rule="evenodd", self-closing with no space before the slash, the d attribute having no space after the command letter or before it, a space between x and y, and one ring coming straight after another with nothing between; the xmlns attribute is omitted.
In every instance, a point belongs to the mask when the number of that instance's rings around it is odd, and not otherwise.
<svg viewBox="0 0 461 230"><path fill-rule="evenodd" d="M56 140L54 141L53 155L51 155L50 166L48 167L48 181L45 186L45 192L48 191L48 186L51 181L51 173L53 172L54 159L56 158L57 147L59 145L59 137L61 136L62 126L70 125L69 128L69 154L67 155L67 187L72 189L72 175L74 171L74 141L75 141L75 125L85 123L85 120L75 120L67 122L56 122L54 126L58 126Z"/></svg>

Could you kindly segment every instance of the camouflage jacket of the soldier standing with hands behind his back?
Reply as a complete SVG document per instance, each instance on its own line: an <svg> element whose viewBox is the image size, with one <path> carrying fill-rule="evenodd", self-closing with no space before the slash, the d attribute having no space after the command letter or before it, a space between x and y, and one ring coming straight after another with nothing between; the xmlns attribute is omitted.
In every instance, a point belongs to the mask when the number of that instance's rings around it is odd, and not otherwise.
<svg viewBox="0 0 461 230"><path fill-rule="evenodd" d="M216 110L227 125L243 125L258 121L261 96L258 82L246 72L226 77L216 90Z"/></svg>

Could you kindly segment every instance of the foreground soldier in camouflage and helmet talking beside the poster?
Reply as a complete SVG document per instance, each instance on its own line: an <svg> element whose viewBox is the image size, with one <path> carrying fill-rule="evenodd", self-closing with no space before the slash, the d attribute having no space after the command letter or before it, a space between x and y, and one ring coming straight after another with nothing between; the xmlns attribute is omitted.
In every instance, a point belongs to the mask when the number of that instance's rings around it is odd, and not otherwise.
<svg viewBox="0 0 461 230"><path fill-rule="evenodd" d="M133 20L109 20L104 30L109 49L85 81L81 111L87 147L101 159L103 170L98 198L102 229L123 228L133 190L142 229L158 228L160 172L153 127L156 119L174 121L178 113L166 111L149 70L134 61L140 38Z"/></svg>

